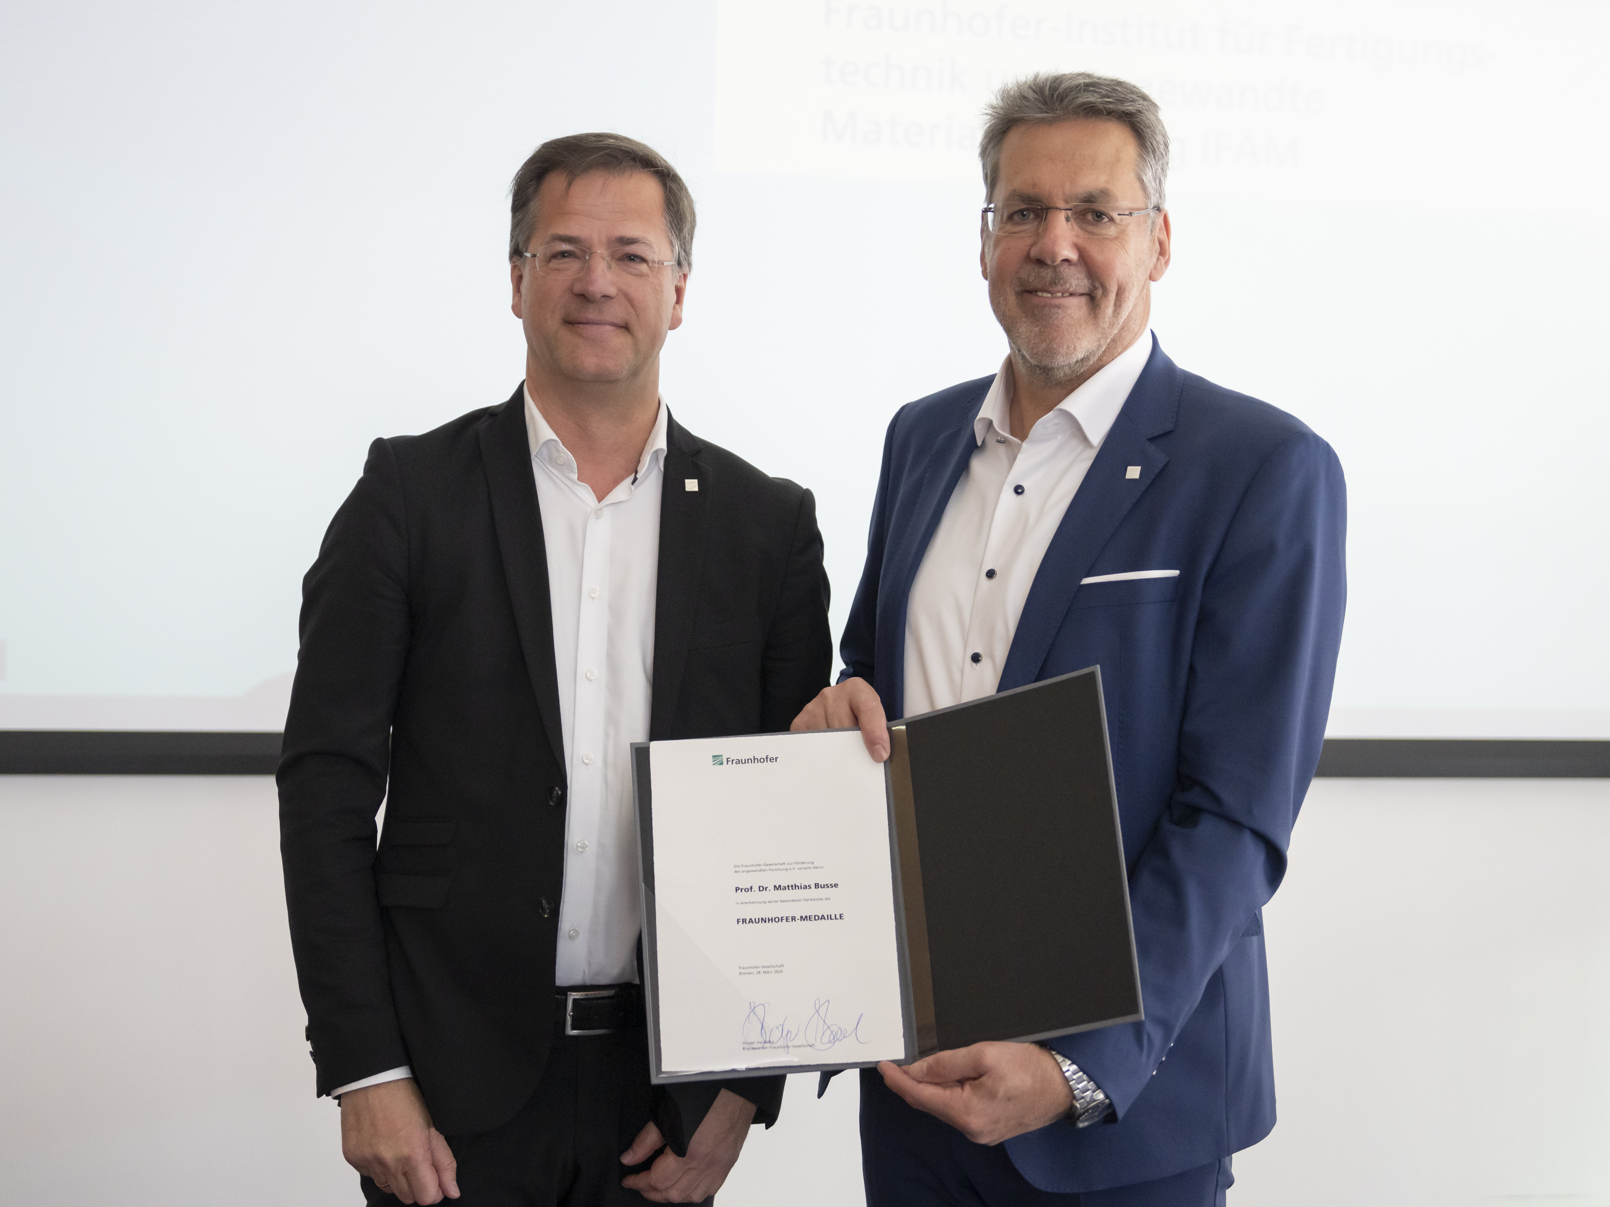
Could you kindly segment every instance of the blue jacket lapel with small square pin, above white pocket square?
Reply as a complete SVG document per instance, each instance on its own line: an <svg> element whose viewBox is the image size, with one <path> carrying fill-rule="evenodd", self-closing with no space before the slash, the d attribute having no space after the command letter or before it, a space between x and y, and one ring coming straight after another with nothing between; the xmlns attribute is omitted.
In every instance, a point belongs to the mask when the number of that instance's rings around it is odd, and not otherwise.
<svg viewBox="0 0 1610 1207"><path fill-rule="evenodd" d="M1018 631L1013 636L998 690L1034 682L1045 665L1045 655L1079 591L1079 579L1090 573L1101 549L1129 515L1135 501L1146 492L1169 459L1151 444L1154 436L1174 430L1180 388L1185 375L1162 354L1156 341L1135 388L1117 412L1090 463L1090 472L1074 492L1074 499L1056 526L1056 534L1040 560L1040 570L1029 587ZM1129 478L1130 465L1140 467L1140 478Z"/></svg>

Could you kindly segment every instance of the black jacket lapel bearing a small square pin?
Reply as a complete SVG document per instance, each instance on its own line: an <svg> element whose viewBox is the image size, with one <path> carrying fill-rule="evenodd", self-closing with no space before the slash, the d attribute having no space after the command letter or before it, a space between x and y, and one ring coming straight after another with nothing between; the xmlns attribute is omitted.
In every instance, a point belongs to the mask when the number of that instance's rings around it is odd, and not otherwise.
<svg viewBox="0 0 1610 1207"><path fill-rule="evenodd" d="M654 687L649 706L649 737L654 740L673 732L699 608L712 489L710 470L699 459L702 451L704 446L668 415L660 478L660 566L654 591ZM699 483L699 489L687 489L691 480Z"/></svg>

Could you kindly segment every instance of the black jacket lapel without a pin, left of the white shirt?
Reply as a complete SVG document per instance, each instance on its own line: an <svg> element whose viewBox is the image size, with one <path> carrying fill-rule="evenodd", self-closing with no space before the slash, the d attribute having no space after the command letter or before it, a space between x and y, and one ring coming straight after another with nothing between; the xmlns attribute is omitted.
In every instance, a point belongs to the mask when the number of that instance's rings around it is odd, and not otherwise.
<svg viewBox="0 0 1610 1207"><path fill-rule="evenodd" d="M531 478L531 444L525 431L525 386L481 426L481 463L493 501L493 528L502 554L504 579L520 632L520 652L531 676L536 710L547 731L554 761L565 766L559 721L559 673L554 669L554 608L547 594L547 546Z"/></svg>

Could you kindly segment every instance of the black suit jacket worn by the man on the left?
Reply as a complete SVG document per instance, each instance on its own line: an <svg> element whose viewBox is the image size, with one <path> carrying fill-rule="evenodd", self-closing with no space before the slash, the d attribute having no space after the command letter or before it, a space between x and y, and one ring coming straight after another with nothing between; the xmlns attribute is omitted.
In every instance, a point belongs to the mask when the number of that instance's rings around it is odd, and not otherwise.
<svg viewBox="0 0 1610 1207"><path fill-rule="evenodd" d="M787 729L832 657L815 501L675 418L663 470L650 737ZM440 1130L509 1120L547 1057L565 842L523 389L370 446L303 581L279 789L319 1093L407 1064ZM776 1118L781 1077L728 1085ZM655 1094L678 1152L720 1088Z"/></svg>

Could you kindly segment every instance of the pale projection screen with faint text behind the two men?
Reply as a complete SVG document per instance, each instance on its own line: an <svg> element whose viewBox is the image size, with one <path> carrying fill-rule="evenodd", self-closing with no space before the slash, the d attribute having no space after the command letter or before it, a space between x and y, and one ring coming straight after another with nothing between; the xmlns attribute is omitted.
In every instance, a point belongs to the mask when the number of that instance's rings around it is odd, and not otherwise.
<svg viewBox="0 0 1610 1207"><path fill-rule="evenodd" d="M1607 32L1567 0L10 5L0 727L279 727L369 439L517 385L507 182L583 129L689 180L667 399L815 489L840 626L887 417L1003 352L985 89L1093 68L1174 134L1164 348L1348 470L1333 732L1610 735ZM869 142L911 129L940 145Z"/></svg>

